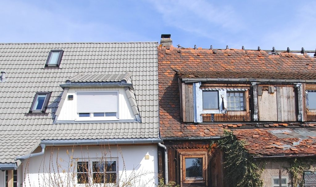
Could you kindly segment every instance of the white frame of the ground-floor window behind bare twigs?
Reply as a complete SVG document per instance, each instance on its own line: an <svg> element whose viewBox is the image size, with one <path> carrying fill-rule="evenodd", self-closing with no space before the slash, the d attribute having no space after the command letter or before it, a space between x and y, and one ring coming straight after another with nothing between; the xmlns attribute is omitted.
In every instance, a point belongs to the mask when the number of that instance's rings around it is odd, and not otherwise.
<svg viewBox="0 0 316 187"><path fill-rule="evenodd" d="M87 184L88 185L91 185L91 184L103 184L103 183L93 183L93 171L92 171L92 167L93 167L93 162L96 162L96 161L116 161L116 182L115 183L118 183L118 179L119 179L119 158L117 157L106 157L106 158L76 158L75 159L76 161L76 168L75 168L75 172L76 172L76 184L79 185L79 186L86 186ZM78 167L78 162L88 162L88 183L78 183L78 178L77 178L77 167ZM112 186L113 184L115 183L104 183L105 186L106 185L110 185Z"/></svg>

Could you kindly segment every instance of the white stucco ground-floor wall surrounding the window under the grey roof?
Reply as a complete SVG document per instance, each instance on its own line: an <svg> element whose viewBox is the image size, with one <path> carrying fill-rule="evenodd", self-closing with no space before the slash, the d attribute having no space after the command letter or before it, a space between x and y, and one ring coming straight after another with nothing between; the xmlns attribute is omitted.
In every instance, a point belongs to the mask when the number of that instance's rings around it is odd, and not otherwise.
<svg viewBox="0 0 316 187"><path fill-rule="evenodd" d="M35 150L37 152L40 150ZM145 159L145 155L149 159ZM129 145L129 146L75 146L75 147L46 147L44 156L32 157L22 163L23 187L58 186L54 183L64 183L64 186L87 186L76 184L76 162L100 161L117 159L117 180L119 186L126 181L132 186L155 187L157 179L157 146ZM92 181L91 181L92 183ZM89 186L103 186L89 184ZM112 185L106 185L112 186Z"/></svg>

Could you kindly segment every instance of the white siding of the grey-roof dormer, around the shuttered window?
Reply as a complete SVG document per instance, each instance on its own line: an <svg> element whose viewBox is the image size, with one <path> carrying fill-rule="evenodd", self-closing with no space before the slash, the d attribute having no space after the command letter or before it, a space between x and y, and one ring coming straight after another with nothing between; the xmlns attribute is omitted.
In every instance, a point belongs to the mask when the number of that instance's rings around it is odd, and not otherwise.
<svg viewBox="0 0 316 187"><path fill-rule="evenodd" d="M81 93L81 92L117 92L118 93L117 120L135 120L136 119L135 115L133 114L133 110L128 100L128 97L126 95L124 87L120 87L120 88L118 87L110 87L110 88L85 87L85 88L69 88L64 104L58 116L58 121L83 121L82 118L79 118L77 114L78 113L77 93ZM73 100L69 100L68 95L73 95ZM111 118L109 120L113 120L113 119ZM89 121L94 121L94 119L89 119ZM95 119L95 121L100 121L100 120Z"/></svg>

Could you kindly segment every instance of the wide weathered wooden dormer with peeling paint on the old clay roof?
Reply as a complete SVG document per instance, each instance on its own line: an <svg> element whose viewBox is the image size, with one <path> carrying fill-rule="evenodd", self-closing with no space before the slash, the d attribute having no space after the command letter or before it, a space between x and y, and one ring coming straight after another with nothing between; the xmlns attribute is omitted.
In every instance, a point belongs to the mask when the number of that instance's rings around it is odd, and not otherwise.
<svg viewBox="0 0 316 187"><path fill-rule="evenodd" d="M309 73L179 70L177 74L184 122L316 120L315 86L307 85L304 93L306 80L293 79L312 78Z"/></svg>

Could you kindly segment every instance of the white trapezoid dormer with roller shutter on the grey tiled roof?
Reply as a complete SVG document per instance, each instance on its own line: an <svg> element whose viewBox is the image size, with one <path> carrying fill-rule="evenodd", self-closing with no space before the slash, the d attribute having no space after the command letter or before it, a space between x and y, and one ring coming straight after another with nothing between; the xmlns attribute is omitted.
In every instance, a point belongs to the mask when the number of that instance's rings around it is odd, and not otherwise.
<svg viewBox="0 0 316 187"><path fill-rule="evenodd" d="M56 123L141 121L130 72L77 74L60 86Z"/></svg>

